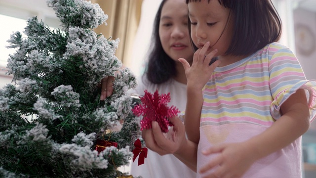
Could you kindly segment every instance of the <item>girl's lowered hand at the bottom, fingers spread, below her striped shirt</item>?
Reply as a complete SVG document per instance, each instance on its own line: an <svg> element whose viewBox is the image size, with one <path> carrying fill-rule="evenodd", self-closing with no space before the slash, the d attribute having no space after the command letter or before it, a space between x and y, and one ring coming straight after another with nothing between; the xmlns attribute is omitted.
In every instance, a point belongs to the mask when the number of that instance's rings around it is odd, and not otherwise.
<svg viewBox="0 0 316 178"><path fill-rule="evenodd" d="M203 151L204 155L218 154L199 173L205 173L214 167L215 171L207 178L241 178L242 175L257 160L256 153L251 146L243 143L225 143Z"/></svg>

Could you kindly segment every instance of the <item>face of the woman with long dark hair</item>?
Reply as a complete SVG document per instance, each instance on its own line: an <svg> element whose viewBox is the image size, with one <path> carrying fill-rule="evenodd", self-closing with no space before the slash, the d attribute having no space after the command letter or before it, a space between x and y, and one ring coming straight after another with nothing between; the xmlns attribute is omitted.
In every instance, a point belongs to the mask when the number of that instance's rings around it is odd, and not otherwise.
<svg viewBox="0 0 316 178"><path fill-rule="evenodd" d="M185 0L167 0L161 9L159 38L163 50L173 60L193 60L188 31L188 6Z"/></svg>

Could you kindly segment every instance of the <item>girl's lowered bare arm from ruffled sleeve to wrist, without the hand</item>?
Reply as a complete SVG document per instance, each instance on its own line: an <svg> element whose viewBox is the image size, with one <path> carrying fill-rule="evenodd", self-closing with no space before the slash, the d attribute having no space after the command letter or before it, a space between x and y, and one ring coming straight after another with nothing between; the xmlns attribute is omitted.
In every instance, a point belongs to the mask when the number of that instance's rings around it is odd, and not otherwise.
<svg viewBox="0 0 316 178"><path fill-rule="evenodd" d="M264 133L248 140L258 159L289 145L310 127L310 112L304 89L281 105L282 116Z"/></svg>

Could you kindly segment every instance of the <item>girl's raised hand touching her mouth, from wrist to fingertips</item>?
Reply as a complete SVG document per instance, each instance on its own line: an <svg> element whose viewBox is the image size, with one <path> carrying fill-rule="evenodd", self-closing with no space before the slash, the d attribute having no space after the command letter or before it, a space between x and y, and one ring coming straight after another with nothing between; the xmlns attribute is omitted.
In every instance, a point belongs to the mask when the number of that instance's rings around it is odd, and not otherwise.
<svg viewBox="0 0 316 178"><path fill-rule="evenodd" d="M215 68L220 64L220 61L217 60L212 65L209 65L212 58L217 53L217 49L215 49L209 54L205 55L209 45L210 43L207 42L202 48L197 49L197 51L194 53L191 67L187 60L183 58L179 59L187 76L188 87L194 87L198 90L203 89Z"/></svg>

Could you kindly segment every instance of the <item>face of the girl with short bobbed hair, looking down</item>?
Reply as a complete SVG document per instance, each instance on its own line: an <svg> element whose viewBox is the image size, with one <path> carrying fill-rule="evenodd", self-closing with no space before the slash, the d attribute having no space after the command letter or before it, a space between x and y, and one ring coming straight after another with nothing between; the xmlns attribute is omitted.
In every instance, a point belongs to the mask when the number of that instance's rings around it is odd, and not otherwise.
<svg viewBox="0 0 316 178"><path fill-rule="evenodd" d="M189 2L188 8L193 43L201 48L206 42L210 42L207 54L217 49L218 56L224 55L232 39L233 25L230 20L227 22L229 9L224 8L218 0Z"/></svg>

